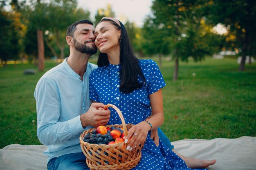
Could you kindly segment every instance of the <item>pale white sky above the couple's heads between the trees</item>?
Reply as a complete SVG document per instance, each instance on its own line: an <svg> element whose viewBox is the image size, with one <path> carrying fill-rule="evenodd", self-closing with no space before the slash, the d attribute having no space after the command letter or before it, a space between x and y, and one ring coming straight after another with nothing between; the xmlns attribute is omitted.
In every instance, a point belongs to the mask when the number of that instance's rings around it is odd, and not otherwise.
<svg viewBox="0 0 256 170"><path fill-rule="evenodd" d="M78 0L79 7L90 11L92 20L97 10L106 9L107 4L111 4L115 18L123 24L129 20L135 22L137 26L142 26L146 15L150 14L152 0Z"/></svg>

